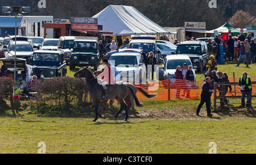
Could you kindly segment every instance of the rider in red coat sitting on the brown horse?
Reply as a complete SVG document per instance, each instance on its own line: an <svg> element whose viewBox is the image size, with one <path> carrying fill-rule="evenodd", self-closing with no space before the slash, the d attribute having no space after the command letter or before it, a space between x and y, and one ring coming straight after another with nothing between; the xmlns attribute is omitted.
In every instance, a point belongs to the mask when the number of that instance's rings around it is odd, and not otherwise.
<svg viewBox="0 0 256 165"><path fill-rule="evenodd" d="M102 87L104 89L104 95L102 96L102 98L106 98L108 97L108 90L106 87L106 84L115 84L114 78L113 78L113 71L110 67L110 65L108 64L108 59L104 59L102 62L102 65L105 65L103 68L103 72L98 75L98 79L102 80Z"/></svg>

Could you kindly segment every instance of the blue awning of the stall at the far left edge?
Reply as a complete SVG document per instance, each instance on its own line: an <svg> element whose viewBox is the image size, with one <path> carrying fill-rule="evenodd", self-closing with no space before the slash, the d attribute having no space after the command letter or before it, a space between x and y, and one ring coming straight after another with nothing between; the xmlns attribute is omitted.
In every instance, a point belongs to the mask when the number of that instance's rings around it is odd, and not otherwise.
<svg viewBox="0 0 256 165"><path fill-rule="evenodd" d="M17 27L20 27L22 18L17 18ZM0 17L0 28L15 28L15 17L1 16Z"/></svg>

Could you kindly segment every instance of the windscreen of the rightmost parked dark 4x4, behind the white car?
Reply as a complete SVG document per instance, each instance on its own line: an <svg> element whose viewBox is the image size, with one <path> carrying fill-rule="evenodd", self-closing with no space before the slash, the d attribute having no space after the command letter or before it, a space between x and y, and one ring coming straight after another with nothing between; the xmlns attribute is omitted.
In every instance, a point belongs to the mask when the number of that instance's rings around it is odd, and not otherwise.
<svg viewBox="0 0 256 165"><path fill-rule="evenodd" d="M176 54L201 54L201 45L180 44L177 46Z"/></svg>

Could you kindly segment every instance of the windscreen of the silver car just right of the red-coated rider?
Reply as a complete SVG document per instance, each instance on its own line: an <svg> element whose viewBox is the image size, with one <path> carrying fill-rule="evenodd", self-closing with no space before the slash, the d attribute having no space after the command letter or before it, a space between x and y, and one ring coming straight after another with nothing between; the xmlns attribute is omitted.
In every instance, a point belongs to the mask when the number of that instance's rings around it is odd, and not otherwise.
<svg viewBox="0 0 256 165"><path fill-rule="evenodd" d="M109 58L112 65L137 65L136 56L111 56Z"/></svg>

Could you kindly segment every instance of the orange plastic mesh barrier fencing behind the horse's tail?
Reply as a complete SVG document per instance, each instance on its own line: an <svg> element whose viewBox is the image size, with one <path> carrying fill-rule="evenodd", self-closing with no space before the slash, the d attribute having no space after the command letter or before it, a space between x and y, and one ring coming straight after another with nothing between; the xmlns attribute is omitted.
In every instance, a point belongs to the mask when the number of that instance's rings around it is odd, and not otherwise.
<svg viewBox="0 0 256 165"><path fill-rule="evenodd" d="M256 81L256 75L254 75L251 78L251 82ZM238 86L238 81L240 77L238 78L229 78L230 83L232 83L232 92L229 94L226 94L226 96L238 96L240 97L241 101L241 94L239 95L240 92L240 87ZM156 93L158 94L154 100L195 100L195 99L200 99L201 91L202 91L202 86L203 86L203 81L197 81L197 82L189 82L189 81L183 81L179 80L176 81L175 79L167 79L164 81L159 81L159 82L154 82L154 84L140 84L137 85L138 87L143 88L149 93ZM218 84L220 85L220 84ZM158 88L155 88L154 91L151 91L150 88L153 86L157 86ZM253 97L256 95L256 87L253 86ZM189 95L188 95L189 94ZM151 100L146 98L146 96L143 96L141 92L137 92L137 96L139 100ZM177 96L180 96L177 97ZM216 96L219 96L219 91L217 90ZM212 94L212 99L214 99L214 95ZM239 98L238 98L239 99Z"/></svg>

